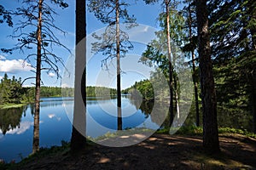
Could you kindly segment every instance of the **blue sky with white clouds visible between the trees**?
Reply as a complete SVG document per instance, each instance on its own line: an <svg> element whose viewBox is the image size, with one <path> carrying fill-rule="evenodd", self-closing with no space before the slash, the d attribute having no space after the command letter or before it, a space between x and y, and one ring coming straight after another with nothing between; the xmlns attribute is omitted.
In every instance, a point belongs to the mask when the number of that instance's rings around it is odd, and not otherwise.
<svg viewBox="0 0 256 170"><path fill-rule="evenodd" d="M17 0L0 0L0 4L2 4L6 9L15 9L17 7L20 7L21 1L18 3ZM73 0L67 0L67 3L69 4L68 8L61 9L61 8L55 8L56 12L59 15L55 16L55 25L59 26L62 30L67 31L66 36L60 34L60 32L56 31L56 36L61 40L63 44L67 46L67 48L70 48L72 51L74 49L74 30L75 30L75 4ZM143 28L147 28L147 26L152 26L154 28L157 28L157 22L156 18L158 17L158 14L160 14L162 8L159 4L154 5L145 5L143 1L137 1L136 3L131 3L131 6L128 8L128 11L130 14L134 14L137 18L137 23L141 25L146 25ZM18 19L14 19L14 23L17 23ZM96 17L94 14L89 13L87 11L87 34L90 35L93 32L97 32L99 29L103 28L104 25L96 20ZM15 46L15 43L17 42L15 39L12 39L11 37L8 37L10 34L12 34L12 31L14 30L15 26L13 28L7 26L6 24L0 25L0 48L12 48ZM139 31L139 30L137 30ZM147 37L147 35L144 35ZM145 44L140 44L136 42L137 44L135 46L135 49L131 52L129 52L128 55L133 56L131 59L127 58L124 59L124 63L121 60L121 68L122 65L137 65L137 59L139 59L140 55L143 53L143 49L145 48ZM35 48L33 49L35 50ZM55 48L54 49L55 54L58 54L63 59L64 63L67 63L67 59L70 57L70 54L61 48ZM30 63L34 63L33 60L24 61L26 58L26 55L29 54L29 52L24 51L23 53L20 53L19 51L15 51L14 54L3 54L0 52L0 78L3 77L4 72L7 72L9 77L15 76L15 77L21 77L22 80L26 77L35 77L35 74L30 71L32 68L30 67ZM96 54L90 57L88 64L87 64L87 84L88 85L100 85L98 81L98 78L102 74L101 67L101 60L103 59L101 54ZM24 66L25 65L25 66ZM141 66L137 66L141 67ZM63 74L64 69L60 68L60 74ZM136 69L135 69L136 70ZM104 73L105 74L105 73ZM139 81L142 78L147 78L147 76L142 75L139 71L125 71L124 74L122 74L122 88L128 88L131 86L135 81ZM106 80L108 80L109 77L106 77ZM43 72L42 73L42 80L44 82L44 86L61 86L61 79L56 79L54 72ZM107 82L111 82L108 84L109 87L115 88L115 80L109 79ZM24 83L24 86L32 86L32 83L34 82L33 79L26 81Z"/></svg>

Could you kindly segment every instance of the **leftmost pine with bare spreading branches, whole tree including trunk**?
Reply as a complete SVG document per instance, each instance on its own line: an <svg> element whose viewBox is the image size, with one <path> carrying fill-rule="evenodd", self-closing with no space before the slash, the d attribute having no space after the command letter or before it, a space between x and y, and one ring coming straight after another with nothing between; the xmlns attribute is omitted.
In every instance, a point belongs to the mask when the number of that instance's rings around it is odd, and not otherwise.
<svg viewBox="0 0 256 170"><path fill-rule="evenodd" d="M70 50L63 45L57 37L55 37L54 29L55 31L61 31L63 34L65 31L62 31L59 27L54 25L55 20L53 14L56 13L54 9L50 7L52 4L49 5L48 3L55 3L55 5L58 5L61 8L67 8L68 5L62 0L24 0L22 3L26 6L21 6L12 13L15 17L22 18L22 21L20 20L20 22L17 23L14 35L11 36L13 38L17 38L18 43L15 45L15 48L2 48L2 51L12 54L12 51L14 50L23 51L26 49L28 51L26 60L31 61L31 59L36 59L36 64L34 65L36 68L36 77L31 77L36 79L34 138L32 150L32 152L35 153L39 150L39 100L40 85L42 82L41 71L55 71L57 77L60 77L58 64L60 63L64 66L64 63L61 57L53 53L52 48L54 46L59 46L66 48L67 51L70 52ZM31 31L31 29L34 29L34 31ZM35 46L36 52L31 52L33 46ZM41 66L43 63L49 65L49 67L42 68Z"/></svg>

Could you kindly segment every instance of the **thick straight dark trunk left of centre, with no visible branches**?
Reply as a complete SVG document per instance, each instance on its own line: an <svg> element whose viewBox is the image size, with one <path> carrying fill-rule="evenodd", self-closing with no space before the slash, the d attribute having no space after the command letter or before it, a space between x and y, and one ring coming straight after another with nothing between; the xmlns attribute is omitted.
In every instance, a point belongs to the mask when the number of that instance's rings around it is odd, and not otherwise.
<svg viewBox="0 0 256 170"><path fill-rule="evenodd" d="M71 150L79 151L86 144L86 12L85 1L76 0L76 48L73 131Z"/></svg>

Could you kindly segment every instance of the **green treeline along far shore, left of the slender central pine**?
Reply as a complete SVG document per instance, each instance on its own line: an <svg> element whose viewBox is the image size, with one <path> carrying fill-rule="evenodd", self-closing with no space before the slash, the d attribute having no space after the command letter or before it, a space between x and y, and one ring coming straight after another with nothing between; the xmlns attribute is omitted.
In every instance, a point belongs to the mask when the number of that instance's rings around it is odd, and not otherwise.
<svg viewBox="0 0 256 170"><path fill-rule="evenodd" d="M41 97L73 97L74 88L44 87ZM105 87L86 87L86 96L116 95L116 89ZM21 78L9 78L5 73L0 81L0 105L31 103L35 99L35 87L23 87Z"/></svg>

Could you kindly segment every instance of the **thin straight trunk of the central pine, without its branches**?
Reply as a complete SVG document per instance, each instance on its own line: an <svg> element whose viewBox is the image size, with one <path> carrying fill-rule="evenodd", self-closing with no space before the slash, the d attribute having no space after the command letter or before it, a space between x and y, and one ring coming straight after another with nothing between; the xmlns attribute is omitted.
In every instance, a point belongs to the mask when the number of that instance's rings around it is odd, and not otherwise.
<svg viewBox="0 0 256 170"><path fill-rule="evenodd" d="M120 40L119 40L119 0L115 2L116 20L116 74L117 74L117 106L118 106L118 130L122 130L122 110L121 110L121 77L120 77Z"/></svg>

